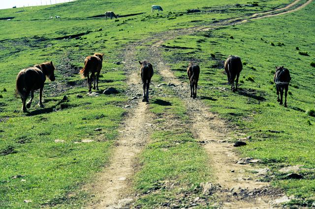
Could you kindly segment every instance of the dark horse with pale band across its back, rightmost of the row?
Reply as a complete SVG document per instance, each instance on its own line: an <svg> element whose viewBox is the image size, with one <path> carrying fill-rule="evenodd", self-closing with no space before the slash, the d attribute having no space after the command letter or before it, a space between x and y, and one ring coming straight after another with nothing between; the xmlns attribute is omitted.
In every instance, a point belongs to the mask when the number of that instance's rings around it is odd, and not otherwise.
<svg viewBox="0 0 315 209"><path fill-rule="evenodd" d="M280 102L280 104L283 104L283 96L285 96L284 99L284 106L287 107L286 105L286 96L287 96L287 89L289 87L289 83L291 80L290 72L288 69L282 67L277 67L276 66L276 73L274 77L274 82L276 83L277 87L277 101ZM285 89L285 93L284 93ZM279 99L279 92L281 95L281 99Z"/></svg>

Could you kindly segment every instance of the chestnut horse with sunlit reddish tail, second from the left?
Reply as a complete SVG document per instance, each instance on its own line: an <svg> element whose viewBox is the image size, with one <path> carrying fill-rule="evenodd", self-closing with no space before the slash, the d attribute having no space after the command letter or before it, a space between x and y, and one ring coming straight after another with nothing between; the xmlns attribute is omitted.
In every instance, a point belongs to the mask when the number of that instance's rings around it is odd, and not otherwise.
<svg viewBox="0 0 315 209"><path fill-rule="evenodd" d="M89 93L92 93L92 78L94 80L93 89L95 89L95 81L96 81L96 90L98 89L98 78L100 70L102 69L103 62L103 53L95 53L93 56L87 56L84 60L84 68L80 70L80 74L82 74L83 78L88 78L89 85ZM91 77L89 77L89 73L91 72ZM96 73L96 80L95 80Z"/></svg>

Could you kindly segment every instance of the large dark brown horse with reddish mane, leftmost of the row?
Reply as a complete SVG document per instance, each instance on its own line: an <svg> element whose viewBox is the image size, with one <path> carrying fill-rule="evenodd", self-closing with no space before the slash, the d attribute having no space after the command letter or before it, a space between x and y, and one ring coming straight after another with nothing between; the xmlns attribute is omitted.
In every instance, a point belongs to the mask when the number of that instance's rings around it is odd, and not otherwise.
<svg viewBox="0 0 315 209"><path fill-rule="evenodd" d="M34 98L34 90L39 89L39 103L40 107L44 107L42 103L42 94L46 77L51 81L55 80L55 66L53 62L44 62L40 65L35 65L31 68L26 68L20 71L16 78L16 92L22 99L22 110L27 111L31 107ZM26 104L26 100L31 93L31 99Z"/></svg>

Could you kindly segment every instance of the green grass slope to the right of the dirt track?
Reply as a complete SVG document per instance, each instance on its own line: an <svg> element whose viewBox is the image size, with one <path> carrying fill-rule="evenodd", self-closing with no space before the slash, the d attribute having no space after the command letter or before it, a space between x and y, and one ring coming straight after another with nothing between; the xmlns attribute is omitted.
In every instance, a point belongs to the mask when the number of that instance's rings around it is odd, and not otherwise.
<svg viewBox="0 0 315 209"><path fill-rule="evenodd" d="M315 47L312 43L315 39L308 35L315 27L310 18L315 14L314 5L313 2L303 10L284 16L181 36L167 44L192 50L164 52L167 61L173 63L174 74L187 82L182 69L189 60L200 64L199 95L210 97L211 100L204 102L212 111L235 124L238 131L252 135L248 146L239 148L242 155L263 159L275 172L283 165L303 164L315 168L315 140L312 137L315 134L315 119L305 113L315 103L315 86L310 85L315 81L314 70L309 64L314 60ZM233 39L228 38L231 35ZM284 44L270 46L270 42ZM296 46L309 52L310 56L297 54ZM212 54L216 55L215 59ZM247 63L243 66L237 93L230 91L223 74L221 60L229 54L239 55ZM275 84L270 81L275 66L282 65L290 70L292 77L288 108L277 103ZM303 205L305 201L310 202L307 198L314 197L314 178L271 180L273 185L284 188L288 194L302 198L294 203Z"/></svg>

